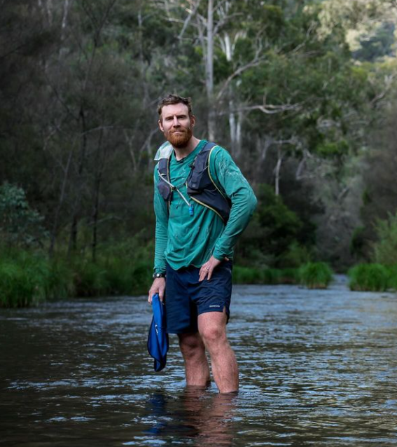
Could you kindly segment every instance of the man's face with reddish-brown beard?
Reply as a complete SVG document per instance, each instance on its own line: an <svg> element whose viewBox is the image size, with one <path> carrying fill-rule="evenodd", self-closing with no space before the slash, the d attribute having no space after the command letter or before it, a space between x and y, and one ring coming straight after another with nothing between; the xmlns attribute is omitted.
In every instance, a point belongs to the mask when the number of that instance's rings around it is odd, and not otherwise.
<svg viewBox="0 0 397 447"><path fill-rule="evenodd" d="M158 125L172 146L182 148L193 136L195 117L189 116L188 106L185 104L170 104L162 107Z"/></svg>

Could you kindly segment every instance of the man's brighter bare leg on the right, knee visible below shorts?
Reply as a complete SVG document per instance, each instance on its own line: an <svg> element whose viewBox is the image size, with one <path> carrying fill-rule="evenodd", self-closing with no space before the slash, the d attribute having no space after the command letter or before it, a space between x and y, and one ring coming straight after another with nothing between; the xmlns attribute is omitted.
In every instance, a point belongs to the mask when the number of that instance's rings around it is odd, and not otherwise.
<svg viewBox="0 0 397 447"><path fill-rule="evenodd" d="M212 374L221 393L239 389L239 370L226 336L226 319L225 311L206 312L198 317L200 336L211 357Z"/></svg>

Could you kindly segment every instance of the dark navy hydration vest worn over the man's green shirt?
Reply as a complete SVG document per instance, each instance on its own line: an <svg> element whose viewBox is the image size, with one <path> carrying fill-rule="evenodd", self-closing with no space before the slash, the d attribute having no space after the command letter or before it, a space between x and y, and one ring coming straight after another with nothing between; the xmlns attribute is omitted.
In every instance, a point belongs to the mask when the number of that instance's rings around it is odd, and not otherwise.
<svg viewBox="0 0 397 447"><path fill-rule="evenodd" d="M230 215L231 202L225 197L216 185L209 172L209 160L211 153L216 144L207 142L202 150L197 154L193 163L190 165L191 170L186 179L189 197L200 205L207 207L218 214L226 224ZM158 191L162 198L169 203L172 200L172 191L175 187L169 182L169 160L172 155L172 146L168 142L160 146L155 160L158 160ZM167 182L164 180L166 179Z"/></svg>

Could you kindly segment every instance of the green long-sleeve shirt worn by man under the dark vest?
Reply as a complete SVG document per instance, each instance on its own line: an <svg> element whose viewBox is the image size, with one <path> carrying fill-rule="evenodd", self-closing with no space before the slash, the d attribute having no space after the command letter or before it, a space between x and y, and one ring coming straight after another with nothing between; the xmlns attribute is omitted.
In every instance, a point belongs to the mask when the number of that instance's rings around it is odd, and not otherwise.
<svg viewBox="0 0 397 447"><path fill-rule="evenodd" d="M172 152L169 163L170 182L176 186L188 202L193 203L193 216L180 195L174 191L167 209L167 202L158 191L159 174L154 171L155 209L155 266L156 272L164 272L166 262L174 270L182 267L201 267L211 255L223 260L232 259L233 247L244 231L256 207L256 197L232 157L220 146L211 153L209 170L217 186L232 202L228 223L211 209L191 200L186 191L186 179L190 163L201 151L206 140L201 140L194 151L176 160Z"/></svg>

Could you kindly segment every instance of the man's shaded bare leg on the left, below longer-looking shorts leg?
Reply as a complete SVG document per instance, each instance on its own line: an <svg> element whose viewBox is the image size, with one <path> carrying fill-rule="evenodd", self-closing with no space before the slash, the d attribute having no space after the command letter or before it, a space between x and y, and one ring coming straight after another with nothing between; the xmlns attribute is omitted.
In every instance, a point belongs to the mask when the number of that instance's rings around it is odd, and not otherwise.
<svg viewBox="0 0 397 447"><path fill-rule="evenodd" d="M199 333L180 333L178 338L185 362L186 385L206 387L210 381L209 366Z"/></svg>

